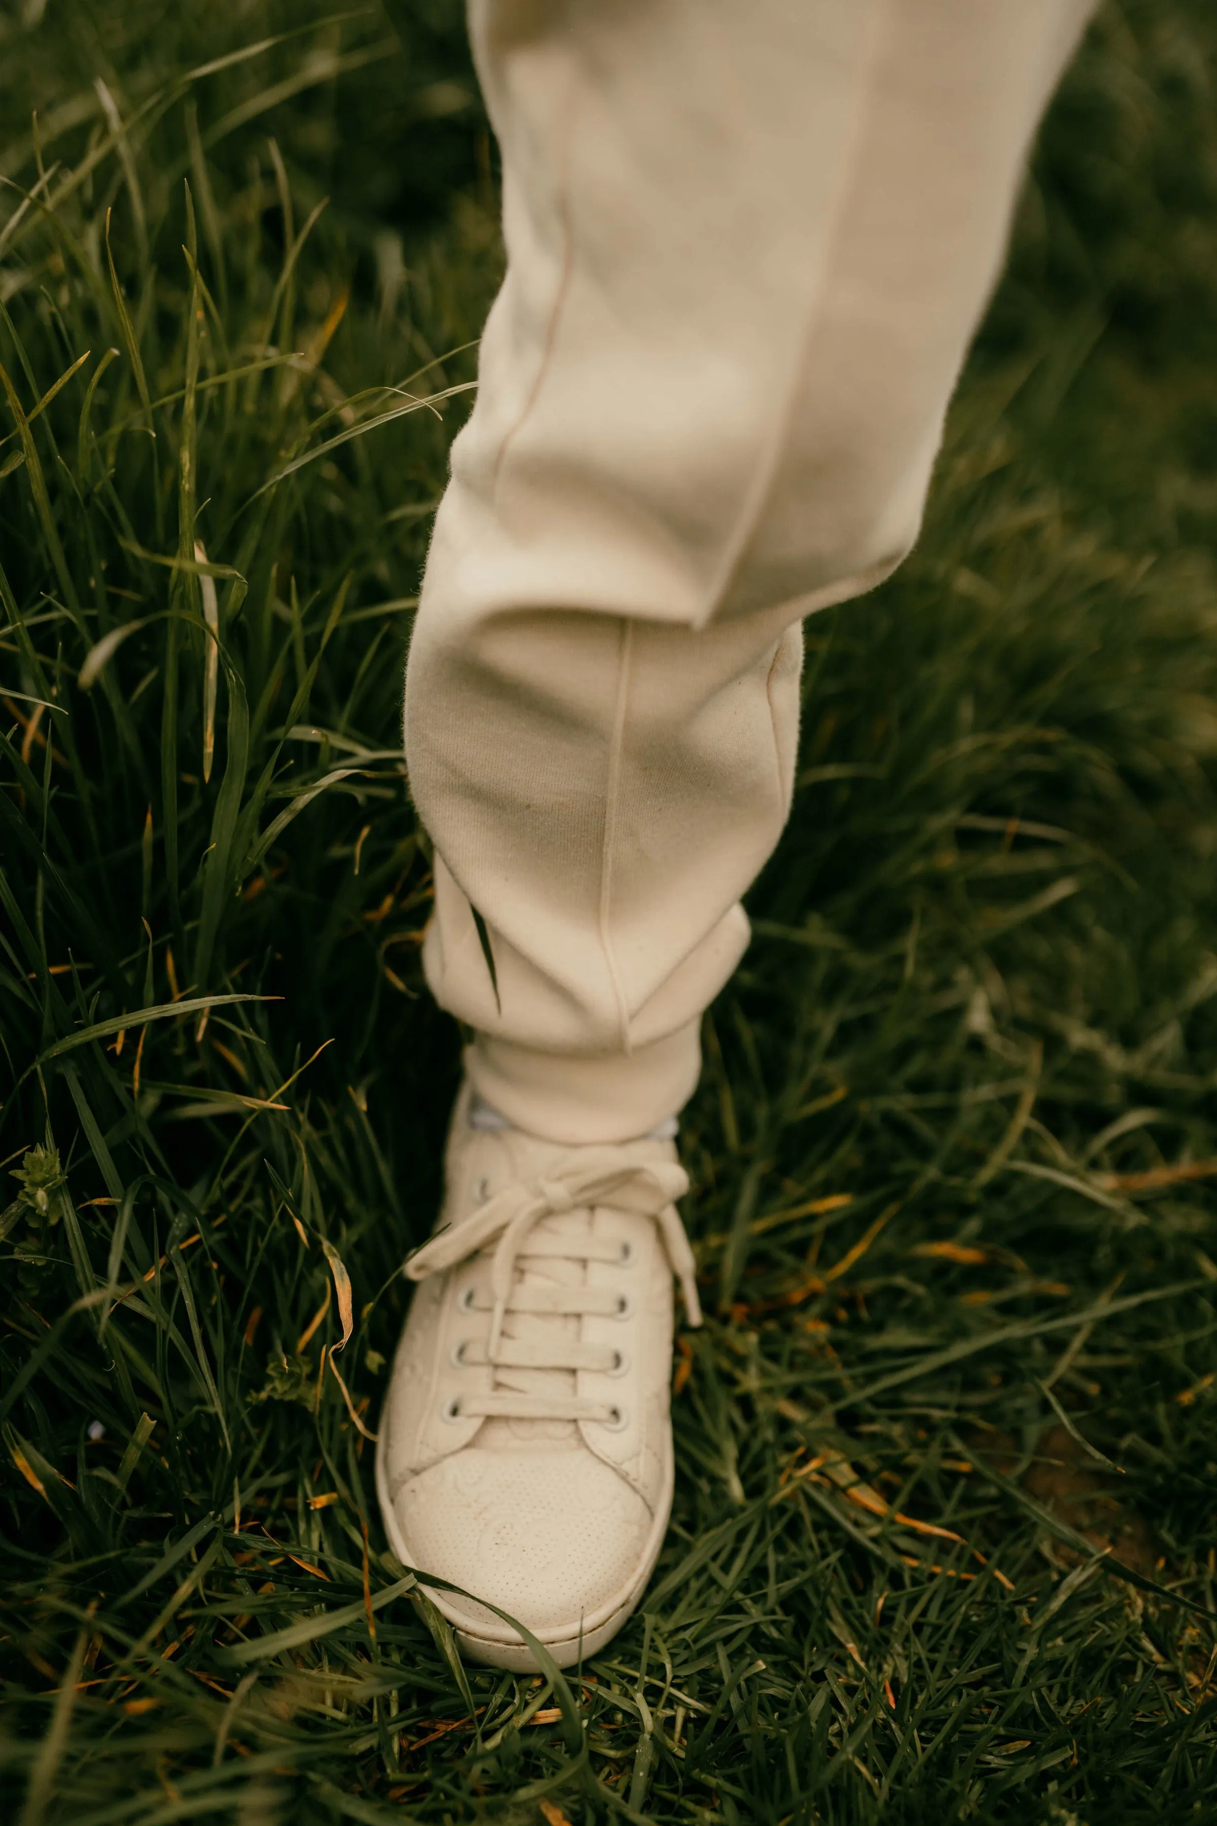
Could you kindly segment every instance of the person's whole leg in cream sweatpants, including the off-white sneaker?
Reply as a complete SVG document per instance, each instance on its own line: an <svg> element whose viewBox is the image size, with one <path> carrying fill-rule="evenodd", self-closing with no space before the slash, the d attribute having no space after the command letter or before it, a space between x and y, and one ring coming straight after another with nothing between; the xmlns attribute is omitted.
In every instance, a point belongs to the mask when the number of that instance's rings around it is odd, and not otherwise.
<svg viewBox="0 0 1217 1826"><path fill-rule="evenodd" d="M509 268L405 721L427 975L476 1037L378 1490L407 1563L560 1663L662 1545L673 1271L699 1313L655 1130L786 816L799 619L916 537L1086 11L473 5ZM493 1611L434 1600L471 1653L535 1665Z"/></svg>

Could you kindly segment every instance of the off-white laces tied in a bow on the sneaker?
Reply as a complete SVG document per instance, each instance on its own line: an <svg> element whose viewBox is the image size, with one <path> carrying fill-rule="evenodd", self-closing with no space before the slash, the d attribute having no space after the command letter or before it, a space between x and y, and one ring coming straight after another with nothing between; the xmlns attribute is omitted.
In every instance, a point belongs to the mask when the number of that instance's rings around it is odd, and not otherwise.
<svg viewBox="0 0 1217 1826"><path fill-rule="evenodd" d="M611 1317L622 1307L622 1295L606 1286L564 1286L525 1284L518 1273L522 1260L549 1262L617 1262L624 1264L620 1244L597 1236L589 1227L575 1231L571 1225L556 1231L547 1227L538 1233L538 1225L547 1218L562 1218L567 1212L589 1212L597 1205L609 1205L615 1211L629 1211L644 1218L653 1218L668 1264L681 1284L684 1311L690 1326L701 1326L701 1302L697 1298L697 1265L690 1249L684 1225L675 1209L675 1200L688 1192L688 1174L675 1161L639 1161L622 1147L586 1147L577 1154L555 1161L553 1169L540 1180L513 1181L496 1192L480 1211L440 1231L416 1249L405 1264L411 1280L425 1280L443 1269L456 1267L471 1256L489 1249L491 1256L491 1300L469 1302L471 1311L489 1311L491 1328L485 1355L478 1348L462 1353L462 1362L491 1364L493 1370L593 1370L613 1373L617 1351L598 1344L582 1344L575 1338L546 1337L533 1340L525 1337L504 1337L507 1315L562 1315L562 1317ZM522 1421L598 1421L600 1424L620 1424L620 1410L609 1402L591 1401L580 1395L562 1395L556 1390L544 1393L524 1393L520 1390L500 1390L491 1393L462 1397L456 1417L480 1419L522 1419Z"/></svg>

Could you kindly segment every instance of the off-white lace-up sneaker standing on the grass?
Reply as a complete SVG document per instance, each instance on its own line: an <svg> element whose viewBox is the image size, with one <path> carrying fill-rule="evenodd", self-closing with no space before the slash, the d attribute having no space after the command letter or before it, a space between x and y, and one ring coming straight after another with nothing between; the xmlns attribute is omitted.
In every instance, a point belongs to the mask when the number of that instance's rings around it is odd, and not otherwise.
<svg viewBox="0 0 1217 1826"><path fill-rule="evenodd" d="M452 1112L440 1225L380 1422L394 1552L518 1618L560 1667L622 1627L671 1510L671 1275L701 1324L664 1134L560 1147ZM535 1669L484 1605L431 1590L465 1654Z"/></svg>

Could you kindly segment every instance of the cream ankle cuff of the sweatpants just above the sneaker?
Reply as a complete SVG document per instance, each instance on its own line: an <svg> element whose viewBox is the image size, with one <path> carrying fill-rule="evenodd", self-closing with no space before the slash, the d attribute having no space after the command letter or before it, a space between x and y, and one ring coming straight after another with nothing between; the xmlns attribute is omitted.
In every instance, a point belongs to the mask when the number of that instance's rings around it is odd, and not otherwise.
<svg viewBox="0 0 1217 1826"><path fill-rule="evenodd" d="M546 1141L633 1141L675 1116L701 1076L701 1019L635 1052L535 1052L478 1034L465 1048L474 1092Z"/></svg>

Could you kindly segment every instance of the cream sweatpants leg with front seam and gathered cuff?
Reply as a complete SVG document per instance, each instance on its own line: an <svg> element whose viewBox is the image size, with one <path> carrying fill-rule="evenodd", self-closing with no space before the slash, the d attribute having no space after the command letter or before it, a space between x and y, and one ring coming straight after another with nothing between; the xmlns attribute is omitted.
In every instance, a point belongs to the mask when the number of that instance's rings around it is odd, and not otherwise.
<svg viewBox="0 0 1217 1826"><path fill-rule="evenodd" d="M471 0L507 276L405 745L427 981L516 1127L628 1139L693 1090L790 809L801 617L918 535L1087 13Z"/></svg>

